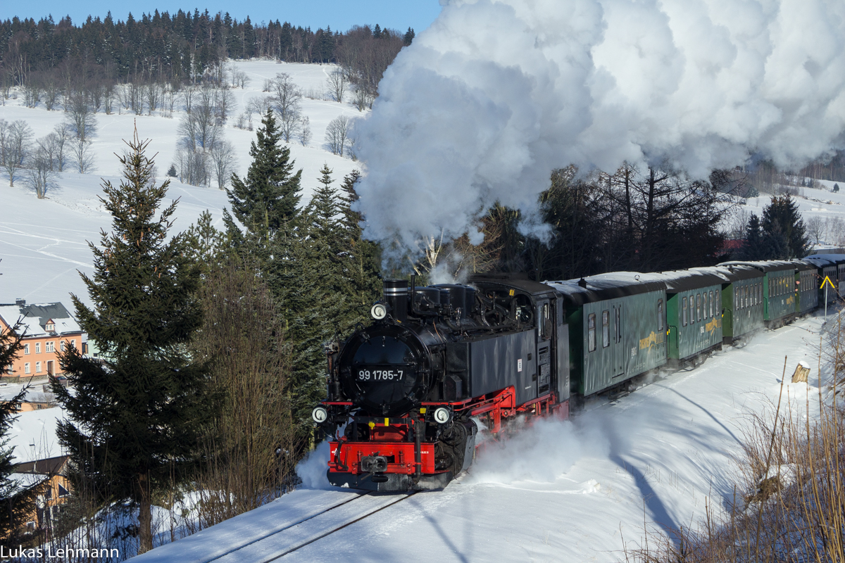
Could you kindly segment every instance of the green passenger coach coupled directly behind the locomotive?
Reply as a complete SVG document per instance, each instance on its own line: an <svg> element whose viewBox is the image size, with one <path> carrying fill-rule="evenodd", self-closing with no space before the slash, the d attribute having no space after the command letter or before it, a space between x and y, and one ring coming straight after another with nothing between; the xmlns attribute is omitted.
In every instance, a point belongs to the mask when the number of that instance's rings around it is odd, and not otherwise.
<svg viewBox="0 0 845 563"><path fill-rule="evenodd" d="M564 295L573 391L586 397L622 387L666 363L666 286L649 275L546 282Z"/></svg>

